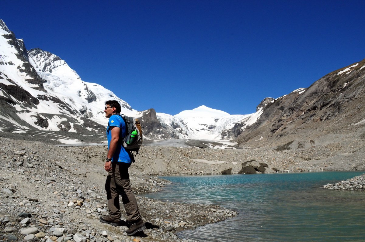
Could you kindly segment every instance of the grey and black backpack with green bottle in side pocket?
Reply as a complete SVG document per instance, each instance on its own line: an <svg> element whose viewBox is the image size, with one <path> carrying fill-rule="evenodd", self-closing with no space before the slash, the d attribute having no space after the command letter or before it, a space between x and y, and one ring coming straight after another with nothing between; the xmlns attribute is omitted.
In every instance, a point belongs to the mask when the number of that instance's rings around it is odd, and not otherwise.
<svg viewBox="0 0 365 242"><path fill-rule="evenodd" d="M139 148L142 145L142 127L141 123L139 122L138 118L133 118L129 116L125 116L124 114L115 113L114 115L118 115L123 118L124 122L126 123L126 136L122 137L122 145L124 149L127 151L135 151L138 154ZM137 137L132 134L133 131L137 131ZM135 133L135 132L134 132ZM134 161L134 157L132 154L132 162Z"/></svg>

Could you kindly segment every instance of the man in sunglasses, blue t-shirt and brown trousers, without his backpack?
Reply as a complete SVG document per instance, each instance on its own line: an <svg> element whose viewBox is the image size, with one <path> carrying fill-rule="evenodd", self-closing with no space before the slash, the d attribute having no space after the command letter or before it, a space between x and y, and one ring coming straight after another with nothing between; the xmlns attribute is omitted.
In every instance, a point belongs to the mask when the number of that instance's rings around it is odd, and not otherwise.
<svg viewBox="0 0 365 242"><path fill-rule="evenodd" d="M128 216L128 222L131 224L126 233L133 235L146 229L146 226L139 213L137 200L129 182L128 168L132 163L132 154L126 151L120 142L126 136L125 123L122 117L113 115L120 113L118 101L106 101L104 112L105 117L109 118L107 126L108 155L104 165L105 171L108 172L105 191L107 192L109 215L100 216L99 220L113 226L122 225L120 220L120 195Z"/></svg>

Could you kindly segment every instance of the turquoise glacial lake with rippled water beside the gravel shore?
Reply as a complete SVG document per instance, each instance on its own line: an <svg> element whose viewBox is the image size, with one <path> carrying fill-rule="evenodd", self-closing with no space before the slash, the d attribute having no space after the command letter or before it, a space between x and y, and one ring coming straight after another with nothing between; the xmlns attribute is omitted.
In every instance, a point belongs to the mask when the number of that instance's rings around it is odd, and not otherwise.
<svg viewBox="0 0 365 242"><path fill-rule="evenodd" d="M239 212L223 222L185 230L195 241L365 241L365 192L322 186L362 172L164 176L173 184L147 197L217 204Z"/></svg>

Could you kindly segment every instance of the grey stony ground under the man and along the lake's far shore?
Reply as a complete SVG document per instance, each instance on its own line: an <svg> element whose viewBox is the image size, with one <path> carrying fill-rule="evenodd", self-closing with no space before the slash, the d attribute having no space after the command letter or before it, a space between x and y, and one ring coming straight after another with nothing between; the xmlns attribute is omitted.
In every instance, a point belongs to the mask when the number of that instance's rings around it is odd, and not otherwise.
<svg viewBox="0 0 365 242"><path fill-rule="evenodd" d="M246 161L267 164L270 172L364 170L364 149L351 143L284 151L143 146L130 175L147 229L131 237L125 226L99 222L108 213L106 146L60 147L9 138L0 142L0 241L185 241L175 232L237 212L141 196L169 183L157 175L234 174Z"/></svg>

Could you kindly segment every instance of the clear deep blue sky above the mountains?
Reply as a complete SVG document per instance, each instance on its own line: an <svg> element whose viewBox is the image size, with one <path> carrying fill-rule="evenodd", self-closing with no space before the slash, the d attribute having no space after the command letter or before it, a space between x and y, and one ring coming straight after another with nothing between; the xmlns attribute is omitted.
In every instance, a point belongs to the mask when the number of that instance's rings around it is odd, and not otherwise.
<svg viewBox="0 0 365 242"><path fill-rule="evenodd" d="M265 97L361 61L364 16L364 1L338 0L5 0L0 9L27 49L58 55L136 110L172 115L200 105L253 113Z"/></svg>

